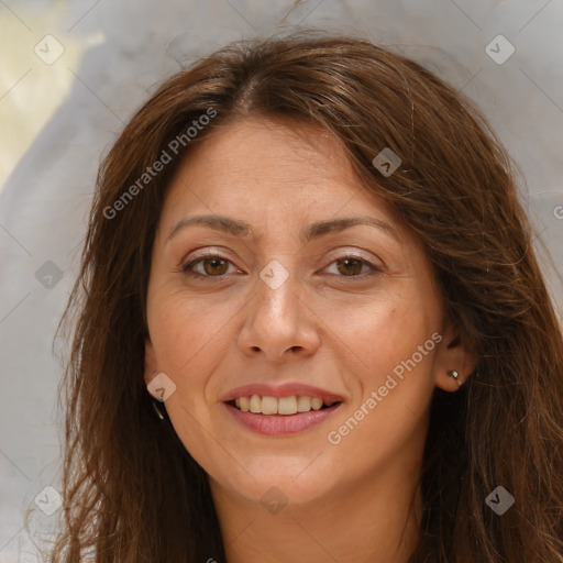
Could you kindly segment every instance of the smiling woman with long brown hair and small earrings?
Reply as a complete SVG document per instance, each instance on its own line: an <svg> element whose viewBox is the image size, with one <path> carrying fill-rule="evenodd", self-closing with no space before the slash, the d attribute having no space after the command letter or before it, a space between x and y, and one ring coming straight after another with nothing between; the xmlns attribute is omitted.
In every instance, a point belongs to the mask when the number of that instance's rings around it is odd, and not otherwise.
<svg viewBox="0 0 563 563"><path fill-rule="evenodd" d="M294 36L172 77L75 308L52 561L563 561L561 328L509 157L418 64Z"/></svg>

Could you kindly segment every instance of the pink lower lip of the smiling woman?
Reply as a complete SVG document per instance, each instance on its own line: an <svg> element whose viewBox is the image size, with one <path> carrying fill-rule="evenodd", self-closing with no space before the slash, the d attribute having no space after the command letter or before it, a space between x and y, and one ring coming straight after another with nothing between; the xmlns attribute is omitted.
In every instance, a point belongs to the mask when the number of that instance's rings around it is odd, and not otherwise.
<svg viewBox="0 0 563 563"><path fill-rule="evenodd" d="M342 402L339 402L322 410L310 410L296 415L256 415L224 404L227 410L238 422L249 430L264 435L291 435L305 432L327 420L341 405Z"/></svg>

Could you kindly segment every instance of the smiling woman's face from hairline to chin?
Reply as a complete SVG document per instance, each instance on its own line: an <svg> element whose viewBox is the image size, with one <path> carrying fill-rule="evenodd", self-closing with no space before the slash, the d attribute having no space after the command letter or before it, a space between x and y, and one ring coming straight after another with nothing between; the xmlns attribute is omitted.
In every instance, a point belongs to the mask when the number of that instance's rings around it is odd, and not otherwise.
<svg viewBox="0 0 563 563"><path fill-rule="evenodd" d="M433 388L470 372L421 245L312 126L238 122L189 155L147 314L146 383L166 374L178 437L241 500L412 474Z"/></svg>

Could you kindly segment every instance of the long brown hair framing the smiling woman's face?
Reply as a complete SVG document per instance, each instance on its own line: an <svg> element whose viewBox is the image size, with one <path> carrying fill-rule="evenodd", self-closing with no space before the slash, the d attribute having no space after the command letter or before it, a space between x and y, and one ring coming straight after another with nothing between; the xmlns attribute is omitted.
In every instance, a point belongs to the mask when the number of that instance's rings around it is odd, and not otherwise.
<svg viewBox="0 0 563 563"><path fill-rule="evenodd" d="M563 562L563 339L514 165L479 111L429 70L367 41L310 35L233 44L173 76L100 167L63 319L77 312L51 561L224 561L207 475L144 384L145 300L181 157L228 121L256 115L314 123L342 143L365 189L420 238L445 312L477 358L457 393L434 391L410 561ZM389 176L372 164L385 147L401 159ZM170 162L143 176L163 151ZM497 486L515 498L503 516L485 501Z"/></svg>

